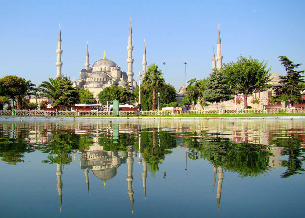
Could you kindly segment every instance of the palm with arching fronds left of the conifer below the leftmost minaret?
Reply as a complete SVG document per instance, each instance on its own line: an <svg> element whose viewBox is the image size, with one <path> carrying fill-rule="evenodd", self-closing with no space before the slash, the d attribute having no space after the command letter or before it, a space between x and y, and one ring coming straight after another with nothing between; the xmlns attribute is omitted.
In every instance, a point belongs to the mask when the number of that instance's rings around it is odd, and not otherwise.
<svg viewBox="0 0 305 218"><path fill-rule="evenodd" d="M59 98L59 95L56 94L57 87L61 81L60 77L53 79L52 77L48 78L49 81L42 81L38 86L38 91L40 92L41 97L49 98L53 103Z"/></svg>

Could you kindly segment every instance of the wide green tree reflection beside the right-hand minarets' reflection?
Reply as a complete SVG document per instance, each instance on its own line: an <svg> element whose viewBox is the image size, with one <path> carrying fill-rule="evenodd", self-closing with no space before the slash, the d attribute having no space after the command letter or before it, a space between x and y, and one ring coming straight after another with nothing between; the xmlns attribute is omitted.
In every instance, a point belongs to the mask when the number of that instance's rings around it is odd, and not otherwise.
<svg viewBox="0 0 305 218"><path fill-rule="evenodd" d="M214 167L237 172L240 177L259 176L268 170L269 146L257 144L233 143L227 138L203 137L205 133L190 133L185 137L188 148L188 157L191 159L203 158L210 161Z"/></svg>

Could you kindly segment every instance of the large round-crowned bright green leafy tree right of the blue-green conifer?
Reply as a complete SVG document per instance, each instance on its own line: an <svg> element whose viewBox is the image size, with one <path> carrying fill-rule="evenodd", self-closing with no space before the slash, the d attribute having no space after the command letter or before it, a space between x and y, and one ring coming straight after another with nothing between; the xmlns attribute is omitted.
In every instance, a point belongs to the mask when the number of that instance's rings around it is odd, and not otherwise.
<svg viewBox="0 0 305 218"><path fill-rule="evenodd" d="M222 72L227 76L229 85L236 94L244 96L244 109L247 108L249 94L263 92L271 88L269 69L267 62L259 62L251 56L248 58L239 56L236 62L224 64Z"/></svg>

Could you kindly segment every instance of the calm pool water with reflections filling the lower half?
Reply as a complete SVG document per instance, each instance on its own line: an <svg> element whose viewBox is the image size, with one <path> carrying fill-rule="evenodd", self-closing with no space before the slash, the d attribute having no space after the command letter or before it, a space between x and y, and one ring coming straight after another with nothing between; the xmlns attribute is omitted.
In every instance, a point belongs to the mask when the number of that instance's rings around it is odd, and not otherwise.
<svg viewBox="0 0 305 218"><path fill-rule="evenodd" d="M304 217L304 127L5 120L0 216Z"/></svg>

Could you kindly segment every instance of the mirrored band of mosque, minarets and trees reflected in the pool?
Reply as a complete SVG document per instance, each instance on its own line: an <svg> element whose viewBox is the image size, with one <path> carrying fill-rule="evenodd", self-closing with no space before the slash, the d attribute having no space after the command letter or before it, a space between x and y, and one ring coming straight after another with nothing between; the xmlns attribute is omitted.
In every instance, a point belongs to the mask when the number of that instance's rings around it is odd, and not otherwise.
<svg viewBox="0 0 305 218"><path fill-rule="evenodd" d="M170 126L170 127L168 127ZM127 194L134 208L132 187L134 158L143 165L142 180L146 199L147 168L159 170L171 149L186 150L187 159L206 159L212 165L217 182L218 210L224 170L240 177L267 174L269 170L287 167L281 177L302 174L304 158L303 123L292 122L143 122L143 123L2 123L0 157L8 164L23 162L25 153L39 150L48 154L42 162L56 164L59 208L63 199L63 166L75 162L80 154L89 195L89 174L99 178L104 187L117 175L121 164L127 163ZM297 131L294 131L297 130ZM138 154L137 154L138 153ZM72 155L74 158L72 158ZM288 159L280 159L287 155ZM186 167L187 170L187 167ZM91 173L89 173L91 171ZM166 172L163 174L166 180Z"/></svg>

